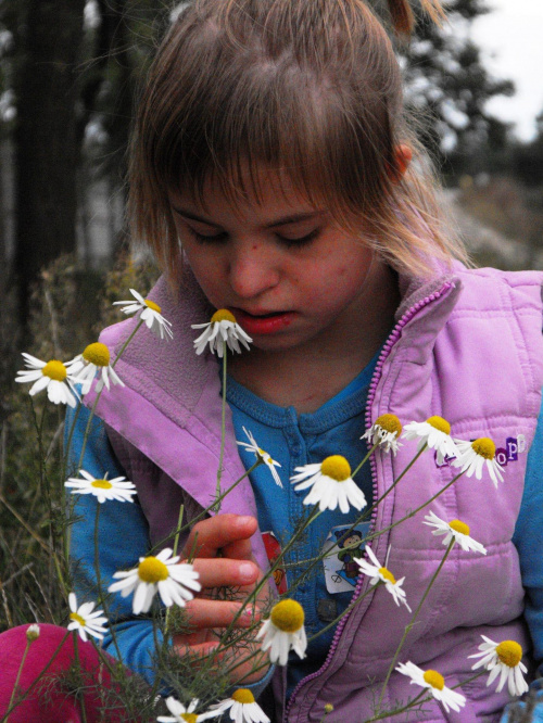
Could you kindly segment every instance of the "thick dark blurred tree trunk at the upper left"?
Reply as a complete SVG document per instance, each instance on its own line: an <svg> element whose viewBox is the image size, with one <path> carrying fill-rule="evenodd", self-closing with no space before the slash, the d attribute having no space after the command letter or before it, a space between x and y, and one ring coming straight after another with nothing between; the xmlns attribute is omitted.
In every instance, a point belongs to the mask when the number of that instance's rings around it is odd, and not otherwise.
<svg viewBox="0 0 543 723"><path fill-rule="evenodd" d="M77 60L85 0L28 0L15 75L15 274L21 321L45 265L75 251Z"/></svg>

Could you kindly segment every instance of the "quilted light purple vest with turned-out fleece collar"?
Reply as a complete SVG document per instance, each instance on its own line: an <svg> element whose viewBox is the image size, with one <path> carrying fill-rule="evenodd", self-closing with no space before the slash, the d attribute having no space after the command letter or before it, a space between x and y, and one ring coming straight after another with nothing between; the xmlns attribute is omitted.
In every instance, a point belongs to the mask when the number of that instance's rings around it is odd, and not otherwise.
<svg viewBox="0 0 543 723"><path fill-rule="evenodd" d="M481 481L460 478L428 509L445 520L459 519L487 549L482 557L455 547L427 597L411 631L400 661L435 669L449 686L470 676L467 656L477 651L485 634L497 642L512 638L526 649L521 619L523 591L518 556L512 543L533 439L543 385L541 287L538 272L503 274L492 269L455 272L425 286L403 289L397 324L379 359L369 392L367 426L384 413L406 423L440 415L460 439L490 436L500 449L505 481L495 490L488 475ZM220 401L217 362L197 357L190 325L205 321L210 308L188 278L184 304L161 279L150 294L173 322L174 342L159 343L141 329L116 370L127 384L104 392L98 414L110 427L115 453L148 517L151 540L164 537L177 522L178 505L199 509L209 505L215 489L220 440ZM106 329L101 340L112 353L134 328L129 319ZM87 404L92 398L87 398ZM416 445L405 442L397 456L376 454L372 460L376 498L413 458ZM519 452L519 448L523 452ZM434 495L455 471L438 467L425 453L374 515L374 530L389 528L409 509ZM243 473L231 420L225 449L223 489ZM223 512L255 515L254 497L245 481L229 495ZM442 538L421 522L427 509L377 537L371 547L380 561L387 549L388 567L404 588L413 609L443 557ZM264 567L258 534L253 548ZM361 578L354 599L369 586ZM278 720L319 721L324 706L334 712L330 723L355 723L372 714L379 682L403 634L409 614L397 608L381 586L367 595L338 625L324 667L305 678L281 711L282 676L276 676ZM395 715L393 721L497 721L507 693L495 693L480 677L462 688L467 698L459 714L433 702L424 710ZM408 678L391 676L383 710L418 693Z"/></svg>

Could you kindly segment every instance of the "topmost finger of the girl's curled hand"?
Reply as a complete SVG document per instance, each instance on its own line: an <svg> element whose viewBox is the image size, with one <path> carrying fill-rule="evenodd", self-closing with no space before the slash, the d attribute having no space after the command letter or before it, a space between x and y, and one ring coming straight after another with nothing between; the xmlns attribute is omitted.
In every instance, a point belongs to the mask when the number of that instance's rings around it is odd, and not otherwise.
<svg viewBox="0 0 543 723"><path fill-rule="evenodd" d="M232 543L249 542L256 532L254 517L242 515L216 515L195 524L187 540L184 555L195 557L216 557L217 551L228 548ZM247 548L244 548L247 550ZM248 555L245 554L247 558Z"/></svg>

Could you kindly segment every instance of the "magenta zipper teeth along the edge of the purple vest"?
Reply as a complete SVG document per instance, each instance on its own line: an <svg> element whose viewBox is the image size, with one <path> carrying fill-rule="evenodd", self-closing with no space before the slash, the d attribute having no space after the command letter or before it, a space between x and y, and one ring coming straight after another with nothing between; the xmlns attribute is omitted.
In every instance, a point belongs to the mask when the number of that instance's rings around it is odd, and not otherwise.
<svg viewBox="0 0 543 723"><path fill-rule="evenodd" d="M402 335L402 329L405 327L405 325L413 319L414 316L420 312L421 308L425 306L428 306L428 304L431 304L432 302L437 301L440 299L446 291L450 289L454 288L454 283L452 281L446 281L441 289L438 291L434 291L431 293L429 296L425 296L420 301L418 301L416 304L414 304L405 314L402 316L402 318L396 322L395 327L392 329L390 337L387 339L384 342L384 346L381 350L381 354L379 355L379 359L377 360L377 365L374 371L374 376L371 378L371 382L369 384L369 391L368 391L368 398L366 402L366 419L365 419L365 429L368 429L371 426L371 407L374 406L374 399L376 395L376 390L377 385L380 381L381 373L382 373L382 367L384 365L384 362L387 358L390 356L390 353L392 351L392 347L394 344L397 342L400 337ZM374 499L377 499L377 473L376 473L376 462L374 455L371 455L369 459L370 468L371 468L371 480L372 480L372 485L374 485ZM375 521L376 521L376 516L377 516L377 507L374 509L371 512L371 520L369 524L369 534L371 534L375 531ZM367 587L369 581L367 576L363 575L362 573L358 575L358 580L356 582L356 587L354 588L353 592L353 598L351 600L352 602L355 602L358 597L362 594L362 591L364 587ZM352 611L351 611L352 612ZM311 675L307 675L306 677L302 678L300 683L296 685L294 690L292 692L292 695L290 696L290 700L288 702L287 709L285 711L285 720L289 720L289 712L292 707L292 702L294 700L294 696L296 693L300 690L300 688L308 683L310 681L315 680L319 675L321 675L330 665L333 655L336 652L336 649L339 644L339 639L341 637L341 633L343 632L344 626L346 625L346 622L349 618L351 617L351 612L348 612L338 623L338 627L336 629L336 633L333 634L332 642L330 644L330 649L328 650L328 655L326 657L325 662L323 663L321 668L319 668L317 671L314 673L311 673Z"/></svg>

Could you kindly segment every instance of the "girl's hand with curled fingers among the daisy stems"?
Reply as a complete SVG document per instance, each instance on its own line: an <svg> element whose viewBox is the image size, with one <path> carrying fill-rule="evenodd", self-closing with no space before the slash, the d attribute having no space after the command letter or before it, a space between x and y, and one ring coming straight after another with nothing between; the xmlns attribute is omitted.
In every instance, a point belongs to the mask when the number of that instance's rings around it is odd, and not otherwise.
<svg viewBox="0 0 543 723"><path fill-rule="evenodd" d="M213 654L222 632L240 610L241 602L262 579L263 573L254 562L251 537L256 532L254 517L216 515L198 522L190 532L181 553L182 558L193 558L194 570L200 574L202 592L187 602L191 632L174 635L174 646L179 655L193 656L194 662L202 656ZM228 599L217 599L220 588L230 588ZM263 602L269 595L267 585L258 594ZM247 606L236 621L236 629L254 626L260 610ZM262 668L268 656L253 654L260 643L251 643L258 626L239 646L220 652L217 662L222 667L236 668L231 672L232 684L250 684L262 678L267 667ZM255 670L258 668L258 670Z"/></svg>

